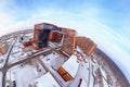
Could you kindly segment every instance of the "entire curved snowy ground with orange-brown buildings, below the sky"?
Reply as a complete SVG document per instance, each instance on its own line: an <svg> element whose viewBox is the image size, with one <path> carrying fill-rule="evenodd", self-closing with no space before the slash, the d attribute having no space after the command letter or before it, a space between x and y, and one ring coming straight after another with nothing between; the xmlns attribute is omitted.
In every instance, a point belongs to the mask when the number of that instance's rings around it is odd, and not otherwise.
<svg viewBox="0 0 130 87"><path fill-rule="evenodd" d="M0 37L0 87L130 87L89 37L50 23Z"/></svg>

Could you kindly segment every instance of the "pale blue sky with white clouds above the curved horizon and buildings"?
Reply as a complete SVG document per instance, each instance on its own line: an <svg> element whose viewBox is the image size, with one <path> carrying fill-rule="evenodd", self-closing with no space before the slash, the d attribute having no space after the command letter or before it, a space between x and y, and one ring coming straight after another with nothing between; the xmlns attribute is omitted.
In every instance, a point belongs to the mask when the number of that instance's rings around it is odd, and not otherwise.
<svg viewBox="0 0 130 87"><path fill-rule="evenodd" d="M0 0L0 35L49 22L92 38L130 80L129 0Z"/></svg>

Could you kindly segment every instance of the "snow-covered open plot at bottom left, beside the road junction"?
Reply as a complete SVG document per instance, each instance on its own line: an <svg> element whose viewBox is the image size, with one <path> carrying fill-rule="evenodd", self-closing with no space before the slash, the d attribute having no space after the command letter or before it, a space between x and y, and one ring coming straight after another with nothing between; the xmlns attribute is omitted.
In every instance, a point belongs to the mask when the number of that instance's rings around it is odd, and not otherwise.
<svg viewBox="0 0 130 87"><path fill-rule="evenodd" d="M44 70L40 65L24 65L10 69L6 74L6 80L16 82L17 87L28 87L36 78L43 75Z"/></svg>

